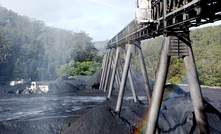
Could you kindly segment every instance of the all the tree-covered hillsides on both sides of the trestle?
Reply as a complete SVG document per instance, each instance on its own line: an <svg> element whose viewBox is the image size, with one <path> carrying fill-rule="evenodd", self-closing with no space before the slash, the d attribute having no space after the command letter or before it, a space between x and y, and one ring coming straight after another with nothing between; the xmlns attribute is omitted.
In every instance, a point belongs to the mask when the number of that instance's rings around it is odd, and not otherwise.
<svg viewBox="0 0 221 134"><path fill-rule="evenodd" d="M221 26L192 30L190 39L200 83L221 86ZM92 38L47 26L0 6L0 83L31 78L54 80L61 75L91 75L101 68L102 56ZM147 72L154 80L162 37L142 42ZM96 42L98 47L104 42ZM133 56L132 67L140 71ZM182 57L172 57L168 81L186 83Z"/></svg>

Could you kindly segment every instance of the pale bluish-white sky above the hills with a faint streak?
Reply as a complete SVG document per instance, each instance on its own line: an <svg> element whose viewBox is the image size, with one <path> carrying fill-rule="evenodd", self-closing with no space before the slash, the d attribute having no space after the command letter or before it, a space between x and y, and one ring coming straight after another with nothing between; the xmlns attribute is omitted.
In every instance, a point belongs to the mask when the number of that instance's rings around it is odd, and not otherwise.
<svg viewBox="0 0 221 134"><path fill-rule="evenodd" d="M111 39L135 18L136 0L0 0L20 15L48 26L85 31L93 41ZM216 23L218 24L218 23Z"/></svg>

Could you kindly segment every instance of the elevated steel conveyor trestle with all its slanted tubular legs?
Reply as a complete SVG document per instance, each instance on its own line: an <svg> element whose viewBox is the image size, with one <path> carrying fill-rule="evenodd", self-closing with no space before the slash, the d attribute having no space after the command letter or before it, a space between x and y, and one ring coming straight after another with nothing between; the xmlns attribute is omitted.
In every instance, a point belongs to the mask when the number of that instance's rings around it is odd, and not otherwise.
<svg viewBox="0 0 221 134"><path fill-rule="evenodd" d="M171 56L182 56L188 85L190 88L198 132L200 134L207 134L209 133L209 127L204 111L202 92L199 85L193 51L189 39L189 28L221 20L221 1L144 0L144 2L145 1L146 8L144 8L144 5L141 4L140 9L138 6L138 10L148 11L147 18L139 20L143 16L136 16L133 21L131 21L117 35L108 41L103 60L103 71L99 89L104 90L104 92L108 89L108 78L111 66L113 66L108 98L111 98L113 84L116 79L120 83L120 89L115 111L120 114L128 75L133 98L134 101L137 102L138 100L130 73L130 60L132 53L138 54L146 95L149 102L149 112L145 134L154 134L156 133L158 113L161 106L170 58ZM140 11L137 12L137 14L139 14ZM151 96L140 41L160 35L164 36L164 40L161 47L157 75ZM128 50L126 52L125 48L127 44ZM113 62L112 58L115 49L117 49L117 51L115 60ZM123 53L125 55L125 63L122 70L119 58L120 54ZM118 75L118 65L122 73L121 79Z"/></svg>

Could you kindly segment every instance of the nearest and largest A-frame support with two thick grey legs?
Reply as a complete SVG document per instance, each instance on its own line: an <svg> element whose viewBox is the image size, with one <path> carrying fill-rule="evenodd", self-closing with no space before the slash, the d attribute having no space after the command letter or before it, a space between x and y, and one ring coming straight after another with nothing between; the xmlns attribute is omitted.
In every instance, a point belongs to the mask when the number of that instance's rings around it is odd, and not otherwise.
<svg viewBox="0 0 221 134"><path fill-rule="evenodd" d="M172 55L183 56L183 62L186 70L188 85L190 88L198 132L200 134L208 134L209 127L203 107L202 92L199 85L195 61L189 40L189 31L181 33L168 33L168 35L164 37L156 81L154 84L151 104L149 107L145 134L155 133L157 118L169 68L169 61Z"/></svg>

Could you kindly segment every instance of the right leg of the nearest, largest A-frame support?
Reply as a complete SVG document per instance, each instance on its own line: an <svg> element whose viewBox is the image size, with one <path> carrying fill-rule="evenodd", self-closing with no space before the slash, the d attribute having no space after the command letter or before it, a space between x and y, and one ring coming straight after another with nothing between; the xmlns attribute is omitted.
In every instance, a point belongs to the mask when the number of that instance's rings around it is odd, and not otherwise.
<svg viewBox="0 0 221 134"><path fill-rule="evenodd" d="M189 39L188 39L189 40ZM189 40L190 42L190 40ZM209 134L209 125L206 118L206 112L203 106L202 91L197 76L196 65L194 61L191 44L188 45L189 55L183 57L186 70L187 81L190 89L191 100L193 103L194 114L199 134Z"/></svg>

